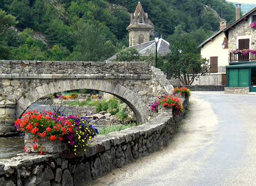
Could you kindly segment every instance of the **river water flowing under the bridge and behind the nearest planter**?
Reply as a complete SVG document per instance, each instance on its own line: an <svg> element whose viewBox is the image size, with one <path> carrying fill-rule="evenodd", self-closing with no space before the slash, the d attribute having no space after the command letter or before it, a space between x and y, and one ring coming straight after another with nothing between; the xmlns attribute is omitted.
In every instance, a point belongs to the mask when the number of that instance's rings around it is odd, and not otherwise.
<svg viewBox="0 0 256 186"><path fill-rule="evenodd" d="M37 101L31 106L29 106L26 110L33 111L33 110L38 110L39 112L42 112L43 109L46 111L52 111L51 109L51 102L41 102ZM80 114L82 115L83 113L80 113L81 109L76 108L75 106L67 106L65 107L64 114L69 115L69 114ZM94 124L93 126L96 128L101 128L104 127L105 123L97 123ZM16 156L17 153L23 153L24 151L24 139L22 136L19 137L2 137L0 138L0 159L3 158L11 158Z"/></svg>

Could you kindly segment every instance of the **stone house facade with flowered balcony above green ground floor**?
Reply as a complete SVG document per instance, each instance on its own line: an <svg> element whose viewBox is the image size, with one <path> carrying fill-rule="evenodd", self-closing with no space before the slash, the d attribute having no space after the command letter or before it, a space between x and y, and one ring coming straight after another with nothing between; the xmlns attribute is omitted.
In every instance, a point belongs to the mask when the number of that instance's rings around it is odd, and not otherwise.
<svg viewBox="0 0 256 186"><path fill-rule="evenodd" d="M256 92L256 7L224 29L229 40L226 93Z"/></svg>

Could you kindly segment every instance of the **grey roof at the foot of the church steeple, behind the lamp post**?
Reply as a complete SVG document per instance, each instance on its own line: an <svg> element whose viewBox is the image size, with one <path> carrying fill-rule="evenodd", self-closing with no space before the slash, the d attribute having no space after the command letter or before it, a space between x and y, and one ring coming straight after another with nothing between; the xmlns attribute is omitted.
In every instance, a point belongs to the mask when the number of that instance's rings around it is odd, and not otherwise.
<svg viewBox="0 0 256 186"><path fill-rule="evenodd" d="M166 40L160 38L157 44L157 54L161 56L166 56L167 53L171 52L169 46L170 44ZM135 48L141 54L141 56L148 56L148 51L152 51L155 53L155 40L151 40L134 46L129 46L128 48L124 49L124 51L128 50L129 48ZM116 55L113 55L106 61L112 61L115 60L115 58Z"/></svg>

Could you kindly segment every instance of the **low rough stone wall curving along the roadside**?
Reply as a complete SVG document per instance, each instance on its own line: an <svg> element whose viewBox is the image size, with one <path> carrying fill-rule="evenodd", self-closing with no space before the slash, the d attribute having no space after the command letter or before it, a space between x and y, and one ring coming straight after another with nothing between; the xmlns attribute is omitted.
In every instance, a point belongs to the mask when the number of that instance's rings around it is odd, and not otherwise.
<svg viewBox="0 0 256 186"><path fill-rule="evenodd" d="M184 107L188 99L182 99ZM19 154L0 161L0 186L82 186L136 159L160 150L173 138L183 113L159 113L155 119L96 137L87 153Z"/></svg>

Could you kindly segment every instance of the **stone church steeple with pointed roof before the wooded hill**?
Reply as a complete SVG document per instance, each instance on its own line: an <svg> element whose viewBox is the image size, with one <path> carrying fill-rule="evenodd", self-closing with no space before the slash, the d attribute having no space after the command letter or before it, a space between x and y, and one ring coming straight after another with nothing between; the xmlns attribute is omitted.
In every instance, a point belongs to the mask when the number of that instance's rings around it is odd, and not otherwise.
<svg viewBox="0 0 256 186"><path fill-rule="evenodd" d="M131 14L131 23L126 28L129 32L129 46L134 46L149 41L149 30L153 28L148 23L148 13L145 13L141 2Z"/></svg>

